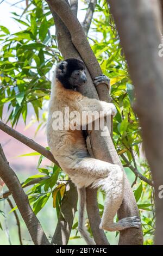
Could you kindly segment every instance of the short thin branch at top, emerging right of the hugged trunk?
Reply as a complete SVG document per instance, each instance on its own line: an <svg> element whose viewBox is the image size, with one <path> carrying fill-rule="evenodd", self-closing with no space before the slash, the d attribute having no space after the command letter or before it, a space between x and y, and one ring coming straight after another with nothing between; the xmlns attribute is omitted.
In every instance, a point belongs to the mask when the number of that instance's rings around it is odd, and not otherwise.
<svg viewBox="0 0 163 256"><path fill-rule="evenodd" d="M82 27L86 35L88 34L91 26L91 21L92 21L93 13L95 11L96 3L97 3L97 0L90 0L89 6L86 10L86 15L82 23Z"/></svg>

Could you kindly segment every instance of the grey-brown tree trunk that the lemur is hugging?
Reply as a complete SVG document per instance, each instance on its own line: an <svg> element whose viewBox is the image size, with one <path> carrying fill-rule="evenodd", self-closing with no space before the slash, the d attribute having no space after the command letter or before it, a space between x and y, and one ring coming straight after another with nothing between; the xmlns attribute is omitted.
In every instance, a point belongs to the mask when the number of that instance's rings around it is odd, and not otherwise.
<svg viewBox="0 0 163 256"><path fill-rule="evenodd" d="M71 13L71 9L68 6L68 4L63 0L61 1L46 0L46 1L51 5L51 8L53 9L53 11L57 13L57 15L61 18L61 20L65 23L66 27L68 28L68 31L71 34L72 42L76 47L76 49L78 50L80 57L82 57L82 59L84 60L87 66L87 69L91 74L91 77L94 78L98 75L101 75L102 70L96 60L95 55L93 54L90 48L90 45L83 31L83 28L80 25L77 18ZM64 52L65 56L66 56L66 51ZM70 53L69 53L69 56L70 56ZM84 91L85 94L83 93L84 95L87 95L87 91L86 91L87 88L90 88L90 87L87 86L84 88L85 90ZM95 88L91 87L91 89L92 89L91 97L94 97L93 95L95 95ZM104 101L110 100L108 88L106 87L105 84L101 84L96 89L97 89L100 100L104 100ZM106 137L104 138L100 136L100 131L92 131L91 142L92 142L93 154L97 159L101 159L103 161L107 161L110 163L119 164L123 169L121 161L116 153L114 144L112 143L110 136L108 136L107 138ZM124 177L125 177L124 199L123 199L121 208L118 211L119 219L123 217L134 216L134 215L139 216L139 210L137 208L135 197L134 197L133 191L131 190L129 181L125 173L124 173ZM92 209L93 209L93 205L92 205ZM95 223L95 224L98 225L99 223ZM143 240L143 236L142 236L141 227L139 229L133 229L133 228L126 229L120 232L120 241L119 241L120 245L121 244L122 245L125 245L125 244L141 245L142 240Z"/></svg>

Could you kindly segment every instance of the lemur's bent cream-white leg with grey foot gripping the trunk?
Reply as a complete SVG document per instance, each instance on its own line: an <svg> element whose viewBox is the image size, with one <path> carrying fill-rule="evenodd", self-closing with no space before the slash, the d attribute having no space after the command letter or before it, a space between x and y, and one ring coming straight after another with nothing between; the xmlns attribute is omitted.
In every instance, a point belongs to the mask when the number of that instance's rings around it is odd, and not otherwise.
<svg viewBox="0 0 163 256"><path fill-rule="evenodd" d="M85 157L76 166L77 176L78 172L80 174L79 183L84 180L84 184L86 184L87 181L92 180L92 187L101 187L106 193L100 228L108 231L117 231L140 227L140 218L136 216L123 218L114 223L114 217L123 200L124 190L124 174L118 165Z"/></svg>

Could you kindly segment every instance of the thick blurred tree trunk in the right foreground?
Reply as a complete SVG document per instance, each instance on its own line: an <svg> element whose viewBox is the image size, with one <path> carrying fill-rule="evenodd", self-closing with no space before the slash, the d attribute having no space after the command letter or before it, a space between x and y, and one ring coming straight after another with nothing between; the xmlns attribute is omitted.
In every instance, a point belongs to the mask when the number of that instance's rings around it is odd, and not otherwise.
<svg viewBox="0 0 163 256"><path fill-rule="evenodd" d="M121 44L135 85L135 111L142 126L143 144L151 167L156 203L156 245L163 245L163 60L159 57L161 15L153 0L110 0Z"/></svg>

